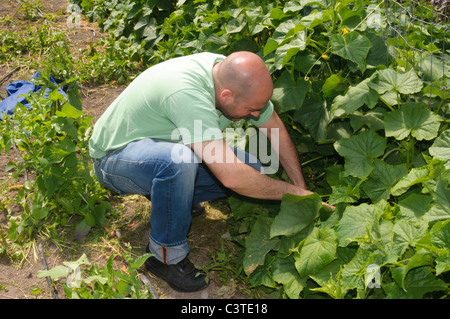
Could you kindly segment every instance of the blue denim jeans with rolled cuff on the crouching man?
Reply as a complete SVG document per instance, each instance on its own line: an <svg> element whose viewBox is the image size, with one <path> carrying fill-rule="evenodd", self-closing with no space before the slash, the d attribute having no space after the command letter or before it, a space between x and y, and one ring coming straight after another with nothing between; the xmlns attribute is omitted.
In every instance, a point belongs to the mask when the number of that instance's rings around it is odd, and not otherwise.
<svg viewBox="0 0 450 319"><path fill-rule="evenodd" d="M261 171L253 155L234 151L241 161ZM166 264L176 264L189 253L192 205L229 195L190 147L150 138L95 159L94 171L119 195L140 194L152 201L149 249Z"/></svg>

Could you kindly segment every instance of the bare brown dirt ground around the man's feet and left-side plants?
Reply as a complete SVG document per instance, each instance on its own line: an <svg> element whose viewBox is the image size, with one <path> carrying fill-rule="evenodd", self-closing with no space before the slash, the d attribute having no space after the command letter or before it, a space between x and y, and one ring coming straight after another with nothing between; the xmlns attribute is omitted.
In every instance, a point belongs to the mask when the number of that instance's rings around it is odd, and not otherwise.
<svg viewBox="0 0 450 319"><path fill-rule="evenodd" d="M68 0L45 0L41 1L45 7L46 13L66 12ZM0 17L20 18L17 10L20 8L18 1L0 0ZM19 16L18 16L19 15ZM65 19L67 13L58 16L57 25L59 28L67 28ZM90 41L94 43L103 36L101 30L95 23L89 23L85 17L81 19L81 26L75 29L67 28L67 36L71 39L75 46L88 46ZM13 71L8 64L0 64L0 79ZM0 94L3 98L6 96L5 87L7 84L16 80L28 80L37 70L22 68L16 70L8 76L7 80L1 83ZM114 85L95 85L84 83L81 89L83 109L98 119L106 110L109 104L122 92L124 86ZM5 181L11 180L11 172L5 171L5 165L8 162L17 161L14 151L10 154L0 154L0 187L6 185ZM29 176L30 179L33 176ZM21 183L22 181L18 181ZM8 196L15 196L15 190L8 190ZM148 214L151 211L151 203L144 200L140 196L129 196L118 200L118 205L123 207L123 214L128 214L130 220L134 218L139 211L142 218L139 223L126 229L126 236L122 235L116 240L121 244L130 242L133 252L136 255L145 253L145 245L147 243L149 222ZM192 222L189 235L189 244L191 247L190 259L197 265L206 265L210 262L209 252L220 249L224 241L227 241L227 224L226 217L228 207L223 203L207 203L206 215L196 217ZM12 212L20 214L19 207L12 207ZM7 223L6 211L0 210L0 223ZM114 221L109 221L110 225L114 225ZM107 225L108 226L108 225ZM0 299L44 299L54 298L45 278L37 277L36 272L44 269L42 256L48 268L62 265L64 261L73 261L80 257L84 252L88 255L91 263L102 265L111 253L115 252L115 247L110 244L108 233L104 233L103 242L98 245L87 243L83 240L70 243L51 243L48 240L40 239L25 246L23 249L24 259L20 262L12 261L11 258L0 256ZM97 239L98 240L98 239ZM43 254L39 251L39 243L42 243ZM77 246L76 251L72 251L70 247ZM92 247L100 246L98 249ZM70 258L70 259L69 259ZM117 267L120 267L120 260L117 261ZM207 289L197 293L179 293L172 290L165 282L153 277L151 274L142 272L150 281L153 287L155 298L165 299L230 299L230 298L249 298L245 289L238 287L233 280L229 280L225 284L221 283L218 273L210 273L211 281ZM66 298L62 287L56 285L57 296L60 299Z"/></svg>

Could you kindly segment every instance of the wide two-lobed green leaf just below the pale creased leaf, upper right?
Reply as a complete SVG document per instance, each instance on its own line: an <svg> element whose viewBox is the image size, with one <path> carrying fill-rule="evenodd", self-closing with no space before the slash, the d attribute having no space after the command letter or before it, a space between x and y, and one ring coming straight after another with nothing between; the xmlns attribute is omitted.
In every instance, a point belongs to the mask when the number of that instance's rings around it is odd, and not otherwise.
<svg viewBox="0 0 450 319"><path fill-rule="evenodd" d="M402 140L411 134L418 140L432 140L438 135L442 118L423 103L405 103L399 110L384 115L386 136Z"/></svg>

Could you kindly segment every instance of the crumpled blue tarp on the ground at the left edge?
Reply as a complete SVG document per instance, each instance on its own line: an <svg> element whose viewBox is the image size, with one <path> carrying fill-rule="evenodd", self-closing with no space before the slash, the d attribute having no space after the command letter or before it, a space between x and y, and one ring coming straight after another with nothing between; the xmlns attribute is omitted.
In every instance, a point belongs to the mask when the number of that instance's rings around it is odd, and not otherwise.
<svg viewBox="0 0 450 319"><path fill-rule="evenodd" d="M8 93L8 97L0 102L0 121L2 120L2 113L6 112L8 116L14 113L16 109L17 103L22 103L28 109L31 109L30 103L26 99L26 95L30 92L38 92L41 89L41 85L36 85L32 80L36 78L40 78L41 73L36 72L29 81L19 80L10 83L6 87L6 92ZM57 85L55 79L50 77L50 81ZM60 93L66 96L66 93L59 89ZM45 97L48 97L50 93L50 89L46 89Z"/></svg>

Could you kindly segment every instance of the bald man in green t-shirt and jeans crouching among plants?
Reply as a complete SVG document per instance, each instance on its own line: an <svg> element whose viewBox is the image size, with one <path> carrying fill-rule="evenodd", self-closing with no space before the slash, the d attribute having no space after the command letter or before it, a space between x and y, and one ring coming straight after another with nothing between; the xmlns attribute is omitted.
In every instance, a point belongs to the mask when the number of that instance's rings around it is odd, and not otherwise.
<svg viewBox="0 0 450 319"><path fill-rule="evenodd" d="M148 251L154 256L146 266L176 290L207 285L187 257L196 204L229 190L271 200L312 193L296 148L273 111L272 92L270 73L253 53L194 54L144 71L95 125L90 140L95 173L121 195L142 194L152 201ZM279 159L292 184L262 174L261 163L227 145L222 131L240 119L266 128L268 139L279 143Z"/></svg>

